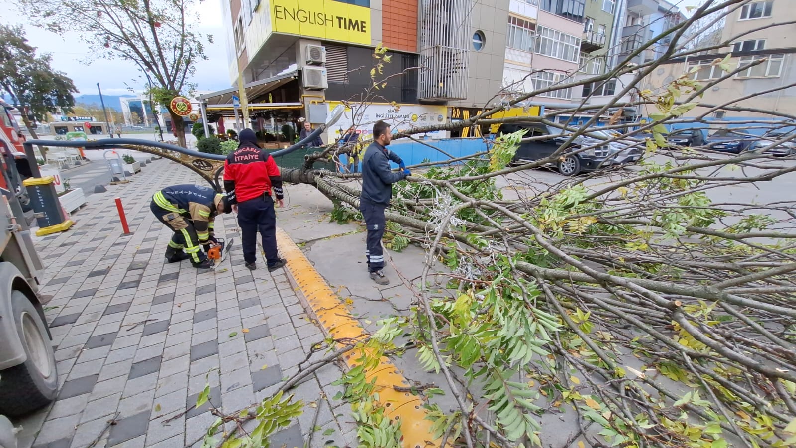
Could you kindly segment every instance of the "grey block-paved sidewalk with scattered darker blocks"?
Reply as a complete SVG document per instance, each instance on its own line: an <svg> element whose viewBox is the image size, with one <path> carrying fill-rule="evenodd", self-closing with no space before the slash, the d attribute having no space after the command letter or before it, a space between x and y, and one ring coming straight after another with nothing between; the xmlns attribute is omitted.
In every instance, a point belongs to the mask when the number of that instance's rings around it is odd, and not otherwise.
<svg viewBox="0 0 796 448"><path fill-rule="evenodd" d="M197 274L187 261L164 263L171 233L151 216L151 195L170 184L202 183L197 175L161 159L131 180L92 195L73 215L72 230L37 240L47 266L41 293L53 297L45 314L61 387L53 406L15 422L23 426L18 436L25 448L95 440L95 446L201 446L216 419L206 405L192 408L205 377L213 405L232 413L270 396L323 340L286 270L271 275L264 263L253 272L244 268L232 214L217 218L217 235L236 244L216 273ZM121 235L117 196L130 236ZM289 213L279 212L280 224ZM272 446L303 446L316 412L320 429L312 446L356 446L348 403L332 399L341 387L330 383L339 377L329 365L291 391L307 406L298 422L272 437Z"/></svg>

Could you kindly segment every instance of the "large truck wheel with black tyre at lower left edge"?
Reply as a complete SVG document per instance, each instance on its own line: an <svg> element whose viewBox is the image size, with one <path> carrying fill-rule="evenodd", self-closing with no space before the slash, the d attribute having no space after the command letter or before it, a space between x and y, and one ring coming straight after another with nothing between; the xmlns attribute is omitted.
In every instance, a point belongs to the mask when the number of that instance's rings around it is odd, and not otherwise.
<svg viewBox="0 0 796 448"><path fill-rule="evenodd" d="M28 359L0 371L0 414L25 415L53 401L58 373L53 344L44 320L28 297L11 292L14 324Z"/></svg>

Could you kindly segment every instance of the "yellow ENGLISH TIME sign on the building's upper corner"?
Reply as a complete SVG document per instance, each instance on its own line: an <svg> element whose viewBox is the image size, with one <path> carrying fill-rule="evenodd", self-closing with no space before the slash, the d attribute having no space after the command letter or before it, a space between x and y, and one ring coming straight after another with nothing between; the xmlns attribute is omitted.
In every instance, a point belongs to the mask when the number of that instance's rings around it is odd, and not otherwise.
<svg viewBox="0 0 796 448"><path fill-rule="evenodd" d="M271 24L274 33L371 45L370 8L345 2L272 0Z"/></svg>

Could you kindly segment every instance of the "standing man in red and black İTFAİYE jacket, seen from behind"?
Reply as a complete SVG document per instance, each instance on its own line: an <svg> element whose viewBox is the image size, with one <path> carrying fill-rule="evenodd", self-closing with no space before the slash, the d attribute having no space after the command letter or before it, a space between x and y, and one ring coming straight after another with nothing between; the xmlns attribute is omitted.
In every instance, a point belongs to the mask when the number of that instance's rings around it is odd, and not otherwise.
<svg viewBox="0 0 796 448"><path fill-rule="evenodd" d="M252 129L238 135L238 148L224 161L224 190L238 214L244 261L250 270L257 269L257 233L263 239L263 251L269 272L285 265L276 250L276 214L274 199L283 206L282 177L274 158L263 151Z"/></svg>

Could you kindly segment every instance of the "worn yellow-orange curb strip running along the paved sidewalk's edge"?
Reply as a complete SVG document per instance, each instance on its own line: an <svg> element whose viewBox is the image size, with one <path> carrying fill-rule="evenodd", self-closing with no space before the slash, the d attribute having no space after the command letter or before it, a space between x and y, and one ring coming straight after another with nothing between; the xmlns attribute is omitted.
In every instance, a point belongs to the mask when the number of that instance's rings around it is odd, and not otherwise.
<svg viewBox="0 0 796 448"><path fill-rule="evenodd" d="M291 273L293 281L309 305L308 312L318 320L326 335L334 339L365 339L368 333L362 328L359 320L351 316L340 297L330 289L329 285L326 285L321 274L281 228L276 230L276 242L279 254L287 261L288 272ZM339 345L340 348L343 346ZM345 364L349 368L356 367L356 360L360 357L361 353L351 351L345 355ZM431 440L433 422L426 419L427 411L423 408L423 400L417 395L396 391L394 387L408 387L409 383L387 357L382 357L379 365L377 370L368 371L365 378L369 381L376 378L374 392L378 392L380 402L384 403L385 414L393 421L401 422L401 432L404 434L403 446L406 448L439 446L439 440Z"/></svg>

